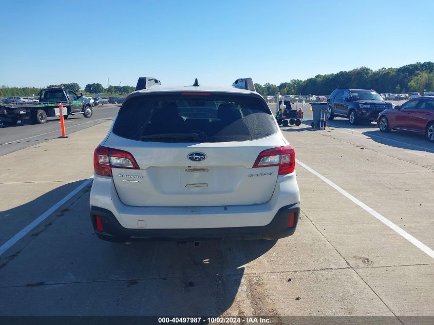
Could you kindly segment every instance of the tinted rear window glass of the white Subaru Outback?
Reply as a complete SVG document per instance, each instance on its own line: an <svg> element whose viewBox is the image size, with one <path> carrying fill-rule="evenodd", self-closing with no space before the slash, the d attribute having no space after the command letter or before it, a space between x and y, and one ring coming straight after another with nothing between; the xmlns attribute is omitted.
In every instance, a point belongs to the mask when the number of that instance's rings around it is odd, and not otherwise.
<svg viewBox="0 0 434 325"><path fill-rule="evenodd" d="M277 131L268 106L231 94L155 94L130 98L113 132L152 142L226 142L264 138Z"/></svg>

